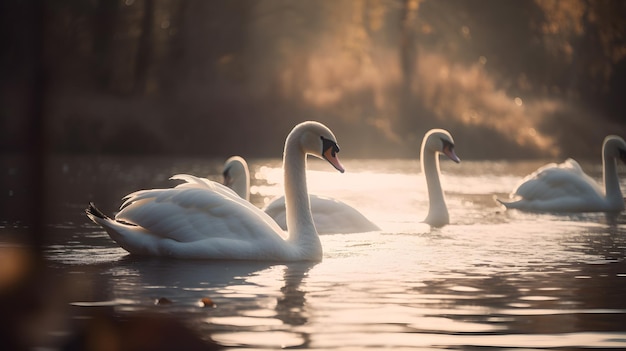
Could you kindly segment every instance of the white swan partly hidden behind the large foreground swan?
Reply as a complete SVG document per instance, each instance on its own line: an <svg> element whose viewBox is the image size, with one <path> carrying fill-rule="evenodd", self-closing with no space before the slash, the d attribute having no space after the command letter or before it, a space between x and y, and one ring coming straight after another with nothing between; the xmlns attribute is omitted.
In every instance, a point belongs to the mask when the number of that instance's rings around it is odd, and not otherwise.
<svg viewBox="0 0 626 351"><path fill-rule="evenodd" d="M240 156L233 156L224 163L224 185L239 196L250 200L250 172L248 163ZM313 223L319 234L363 233L380 230L361 212L345 202L318 195L309 195ZM264 209L278 225L287 230L285 197L272 200Z"/></svg>

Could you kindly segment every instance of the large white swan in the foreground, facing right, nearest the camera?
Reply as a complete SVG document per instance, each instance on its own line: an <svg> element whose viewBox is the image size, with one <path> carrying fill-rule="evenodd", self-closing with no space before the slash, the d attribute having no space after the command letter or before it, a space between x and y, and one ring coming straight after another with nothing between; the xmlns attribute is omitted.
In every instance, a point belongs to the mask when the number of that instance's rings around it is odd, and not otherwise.
<svg viewBox="0 0 626 351"><path fill-rule="evenodd" d="M306 156L326 159L340 172L339 147L323 124L303 122L287 136L283 157L288 237L265 212L206 178L176 175L174 188L126 196L115 219L93 204L89 218L132 254L189 259L319 261L322 245L311 218Z"/></svg>

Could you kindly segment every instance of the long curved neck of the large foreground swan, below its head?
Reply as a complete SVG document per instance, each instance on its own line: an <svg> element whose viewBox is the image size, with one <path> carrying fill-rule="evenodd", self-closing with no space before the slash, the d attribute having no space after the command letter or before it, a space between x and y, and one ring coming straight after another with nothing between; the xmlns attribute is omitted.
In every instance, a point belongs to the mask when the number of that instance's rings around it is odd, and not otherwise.
<svg viewBox="0 0 626 351"><path fill-rule="evenodd" d="M288 241L312 254L312 258L321 258L322 245L313 223L306 183L307 156L297 139L296 136L287 139L283 154Z"/></svg>

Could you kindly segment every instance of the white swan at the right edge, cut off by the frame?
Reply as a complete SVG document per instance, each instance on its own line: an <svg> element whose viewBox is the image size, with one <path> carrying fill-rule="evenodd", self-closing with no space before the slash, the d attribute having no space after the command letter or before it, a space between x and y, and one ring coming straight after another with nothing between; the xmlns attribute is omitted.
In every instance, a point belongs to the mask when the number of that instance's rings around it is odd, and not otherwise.
<svg viewBox="0 0 626 351"><path fill-rule="evenodd" d="M604 191L570 158L561 164L547 164L526 176L510 195L514 201L498 201L507 208L535 212L622 211L618 158L626 163L626 143L619 136L609 135L602 143Z"/></svg>

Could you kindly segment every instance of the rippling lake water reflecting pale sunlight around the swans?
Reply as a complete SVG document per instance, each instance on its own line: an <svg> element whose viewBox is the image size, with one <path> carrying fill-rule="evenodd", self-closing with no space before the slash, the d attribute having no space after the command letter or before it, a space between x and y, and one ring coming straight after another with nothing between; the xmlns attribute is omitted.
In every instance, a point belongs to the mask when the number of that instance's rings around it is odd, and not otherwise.
<svg viewBox="0 0 626 351"><path fill-rule="evenodd" d="M282 193L280 161L248 161L261 206ZM89 201L113 213L127 193L171 186L176 173L219 179L223 160L51 158L51 306L30 346L60 348L106 311L175 319L226 348L626 348L625 214L505 211L494 196L545 162L442 161L451 224L431 229L420 223L417 160L342 161L345 174L310 160L310 193L352 204L382 230L322 235L322 262L283 264L135 258L83 214ZM582 166L600 181L600 163Z"/></svg>

